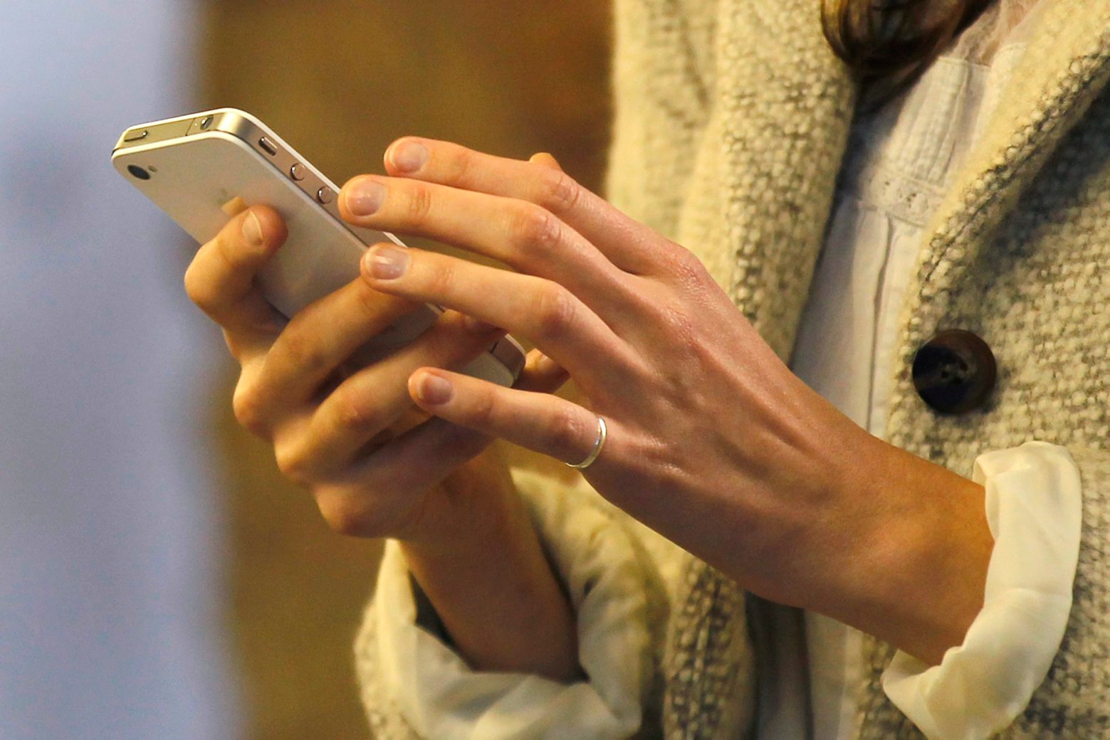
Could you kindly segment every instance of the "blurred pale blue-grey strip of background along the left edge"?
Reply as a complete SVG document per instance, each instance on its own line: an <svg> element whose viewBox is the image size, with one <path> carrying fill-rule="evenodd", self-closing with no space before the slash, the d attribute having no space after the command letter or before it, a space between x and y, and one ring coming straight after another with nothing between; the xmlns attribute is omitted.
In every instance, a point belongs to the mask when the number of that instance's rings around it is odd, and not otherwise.
<svg viewBox="0 0 1110 740"><path fill-rule="evenodd" d="M2 9L0 737L235 737L196 405L219 347L180 232L107 166L192 103L198 8Z"/></svg>

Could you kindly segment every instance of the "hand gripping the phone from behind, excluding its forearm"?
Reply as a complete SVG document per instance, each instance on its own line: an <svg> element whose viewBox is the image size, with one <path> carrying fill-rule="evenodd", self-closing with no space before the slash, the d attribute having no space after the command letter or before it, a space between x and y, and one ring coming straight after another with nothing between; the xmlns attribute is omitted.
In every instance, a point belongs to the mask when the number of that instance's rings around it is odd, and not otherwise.
<svg viewBox="0 0 1110 740"><path fill-rule="evenodd" d="M355 277L286 321L262 296L255 276L281 247L285 226L272 209L233 217L204 244L185 290L224 332L242 366L233 406L240 424L268 439L281 472L309 488L327 523L363 537L421 540L440 536L451 476L491 438L427 419L407 391L424 366L458 368L502 331L453 311L417 339L367 366L349 358L417 304L374 291ZM553 391L566 375L537 352L516 387ZM476 474L475 472L481 472ZM503 466L471 466L461 487L505 485ZM444 484L444 485L441 485Z"/></svg>

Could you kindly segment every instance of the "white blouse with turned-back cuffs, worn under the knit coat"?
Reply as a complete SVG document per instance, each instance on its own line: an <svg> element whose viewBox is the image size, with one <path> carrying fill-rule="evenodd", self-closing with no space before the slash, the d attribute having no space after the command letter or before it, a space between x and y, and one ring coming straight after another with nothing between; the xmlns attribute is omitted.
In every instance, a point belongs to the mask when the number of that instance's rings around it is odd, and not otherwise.
<svg viewBox="0 0 1110 740"><path fill-rule="evenodd" d="M1000 0L911 90L852 129L793 368L872 434L884 432L898 314L929 217L1025 48L1035 3ZM1043 681L1071 609L1081 510L1074 464L1063 448L1037 442L983 453L975 479L986 487L996 539L983 610L939 667L898 653L884 675L887 695L931 739L986 738L1009 724ZM535 489L531 478L518 483ZM471 670L421 627L404 558L387 545L371 606L381 690L423 737L617 740L638 726L652 611L628 543L583 500L558 491L529 504L575 607L588 683ZM758 738L851 738L860 633L807 614L807 659L788 645L790 610L770 616L761 627L778 645L759 682Z"/></svg>

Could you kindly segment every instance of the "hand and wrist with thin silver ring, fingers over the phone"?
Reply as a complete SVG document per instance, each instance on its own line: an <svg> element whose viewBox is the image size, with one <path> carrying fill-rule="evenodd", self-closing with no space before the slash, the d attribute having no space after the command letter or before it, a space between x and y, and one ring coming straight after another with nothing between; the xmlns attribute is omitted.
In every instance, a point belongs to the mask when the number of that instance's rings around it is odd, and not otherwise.
<svg viewBox="0 0 1110 740"><path fill-rule="evenodd" d="M379 245L367 284L531 339L588 405L422 368L423 409L567 463L601 415L589 481L743 586L926 659L960 641L990 550L978 486L839 414L690 252L558 170L425 139L396 142L386 168L343 187L345 219L516 272Z"/></svg>

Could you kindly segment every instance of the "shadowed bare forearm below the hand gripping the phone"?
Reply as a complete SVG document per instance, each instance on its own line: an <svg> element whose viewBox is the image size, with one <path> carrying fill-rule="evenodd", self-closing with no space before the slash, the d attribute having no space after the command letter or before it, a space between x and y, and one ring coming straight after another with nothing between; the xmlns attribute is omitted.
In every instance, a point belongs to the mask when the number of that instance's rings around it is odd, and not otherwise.
<svg viewBox="0 0 1110 740"><path fill-rule="evenodd" d="M507 469L487 454L445 485L457 508L436 527L452 531L402 551L456 650L476 670L578 678L574 611Z"/></svg>

